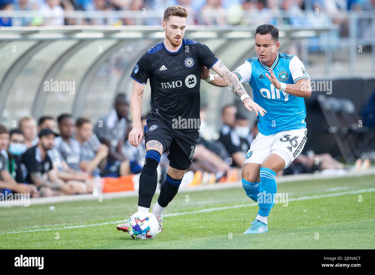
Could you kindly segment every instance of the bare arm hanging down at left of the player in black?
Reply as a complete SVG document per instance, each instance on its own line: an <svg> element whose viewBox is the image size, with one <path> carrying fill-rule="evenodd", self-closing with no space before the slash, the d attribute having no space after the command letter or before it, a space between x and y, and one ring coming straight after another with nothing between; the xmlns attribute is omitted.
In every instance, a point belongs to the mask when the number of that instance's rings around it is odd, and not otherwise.
<svg viewBox="0 0 375 275"><path fill-rule="evenodd" d="M146 85L133 80L133 93L130 97L130 111L132 113L133 129L129 133L129 143L135 147L138 147L138 144L141 142L143 137L141 113L142 97L145 86Z"/></svg>

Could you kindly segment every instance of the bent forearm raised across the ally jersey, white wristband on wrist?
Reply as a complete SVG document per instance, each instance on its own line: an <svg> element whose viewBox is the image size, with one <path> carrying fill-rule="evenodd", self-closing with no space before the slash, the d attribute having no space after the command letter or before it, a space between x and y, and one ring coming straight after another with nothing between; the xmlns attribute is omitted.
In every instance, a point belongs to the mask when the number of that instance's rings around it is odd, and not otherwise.
<svg viewBox="0 0 375 275"><path fill-rule="evenodd" d="M296 97L310 97L311 96L311 81L310 79L300 79L294 84L281 83L275 76L273 71L270 69L269 73L266 73L266 77L271 81L276 89L279 89L288 94ZM285 86L284 86L285 85Z"/></svg>

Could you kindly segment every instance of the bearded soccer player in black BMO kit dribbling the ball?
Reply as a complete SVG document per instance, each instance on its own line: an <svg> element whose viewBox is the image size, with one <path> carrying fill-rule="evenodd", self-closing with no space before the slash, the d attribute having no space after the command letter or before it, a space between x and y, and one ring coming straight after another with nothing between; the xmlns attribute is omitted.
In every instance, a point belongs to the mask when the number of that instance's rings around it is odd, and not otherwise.
<svg viewBox="0 0 375 275"><path fill-rule="evenodd" d="M161 155L169 150L166 180L160 188L157 203L151 208L151 213L159 222L159 232L163 230L164 208L177 194L182 177L191 165L199 137L199 86L202 67L211 68L221 76L241 98L246 109L254 109L257 116L264 116L266 113L266 110L251 100L238 78L206 45L183 39L186 18L187 10L184 7L176 5L166 8L162 22L164 41L142 55L131 74L133 93L130 110L133 129L129 134L129 143L138 147L144 135L147 150L139 177L138 211L149 211L157 186L156 168ZM142 95L147 79L150 79L151 86L151 114L147 125L142 129ZM209 82L210 79L206 81ZM198 123L178 125L176 121ZM189 127L191 124L195 127ZM127 231L127 223L119 224L117 229Z"/></svg>

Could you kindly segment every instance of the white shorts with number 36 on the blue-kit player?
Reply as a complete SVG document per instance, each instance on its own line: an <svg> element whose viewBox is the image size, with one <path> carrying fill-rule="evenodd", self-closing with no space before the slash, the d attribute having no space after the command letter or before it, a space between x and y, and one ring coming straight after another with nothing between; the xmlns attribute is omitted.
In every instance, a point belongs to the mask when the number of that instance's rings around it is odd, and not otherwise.
<svg viewBox="0 0 375 275"><path fill-rule="evenodd" d="M244 164L262 164L270 154L276 154L284 159L284 168L287 168L302 152L307 140L306 134L306 128L283 131L273 135L262 135L258 132L246 154Z"/></svg>

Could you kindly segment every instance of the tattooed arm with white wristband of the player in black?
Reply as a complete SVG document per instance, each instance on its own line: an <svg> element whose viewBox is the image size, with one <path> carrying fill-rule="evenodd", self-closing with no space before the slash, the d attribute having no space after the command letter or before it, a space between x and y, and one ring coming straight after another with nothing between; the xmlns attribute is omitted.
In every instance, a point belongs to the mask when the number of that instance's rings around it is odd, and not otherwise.
<svg viewBox="0 0 375 275"><path fill-rule="evenodd" d="M246 109L248 109L249 111L252 111L252 109L254 109L257 116L258 114L260 114L260 116L264 116L264 113L267 113L266 110L264 110L250 98L248 93L245 91L245 88L243 88L238 77L234 73L229 71L228 68L225 67L223 62L221 62L221 60L219 60L219 62L216 62L212 66L212 70L214 70L222 78L222 80L226 83L226 86L229 86L234 94L241 98Z"/></svg>

